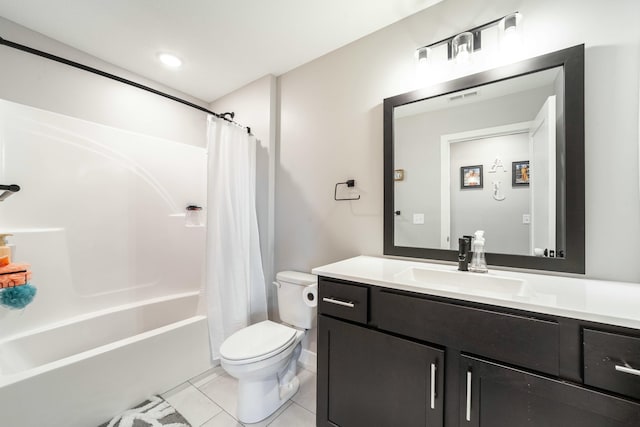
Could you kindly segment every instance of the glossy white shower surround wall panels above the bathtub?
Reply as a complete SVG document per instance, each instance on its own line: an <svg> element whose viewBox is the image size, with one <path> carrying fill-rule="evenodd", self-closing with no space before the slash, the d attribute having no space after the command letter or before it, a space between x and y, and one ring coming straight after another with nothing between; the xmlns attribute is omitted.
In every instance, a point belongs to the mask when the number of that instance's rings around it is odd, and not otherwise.
<svg viewBox="0 0 640 427"><path fill-rule="evenodd" d="M0 132L1 174L22 184L0 221L39 289L0 339L199 289L205 232L184 212L205 204L204 149L8 101Z"/></svg>

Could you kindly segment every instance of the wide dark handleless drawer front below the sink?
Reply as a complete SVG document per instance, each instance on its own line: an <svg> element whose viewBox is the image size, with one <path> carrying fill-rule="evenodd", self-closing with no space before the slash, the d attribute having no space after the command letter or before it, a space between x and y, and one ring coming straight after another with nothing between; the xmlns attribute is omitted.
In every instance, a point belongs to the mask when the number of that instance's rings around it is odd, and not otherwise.
<svg viewBox="0 0 640 427"><path fill-rule="evenodd" d="M387 331L559 375L555 322L384 291L375 319Z"/></svg>

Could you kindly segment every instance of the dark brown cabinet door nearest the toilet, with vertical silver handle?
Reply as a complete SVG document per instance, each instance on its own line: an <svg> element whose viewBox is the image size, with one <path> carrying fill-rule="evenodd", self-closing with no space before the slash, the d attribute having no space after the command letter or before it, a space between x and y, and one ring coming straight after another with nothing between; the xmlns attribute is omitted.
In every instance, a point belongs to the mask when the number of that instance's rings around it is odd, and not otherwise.
<svg viewBox="0 0 640 427"><path fill-rule="evenodd" d="M318 320L318 426L443 426L444 352Z"/></svg>

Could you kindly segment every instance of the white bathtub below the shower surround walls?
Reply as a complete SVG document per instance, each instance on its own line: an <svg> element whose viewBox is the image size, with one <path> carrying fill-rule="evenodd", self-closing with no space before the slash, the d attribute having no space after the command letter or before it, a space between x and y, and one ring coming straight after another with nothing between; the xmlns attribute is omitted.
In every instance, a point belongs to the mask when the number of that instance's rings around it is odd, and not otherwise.
<svg viewBox="0 0 640 427"><path fill-rule="evenodd" d="M199 292L83 314L0 341L0 425L93 427L210 368Z"/></svg>

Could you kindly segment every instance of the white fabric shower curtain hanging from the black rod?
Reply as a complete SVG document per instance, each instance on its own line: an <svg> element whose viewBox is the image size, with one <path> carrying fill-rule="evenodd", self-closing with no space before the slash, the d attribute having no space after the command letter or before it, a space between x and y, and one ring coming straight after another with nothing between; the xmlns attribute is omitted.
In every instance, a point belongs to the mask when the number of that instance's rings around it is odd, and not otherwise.
<svg viewBox="0 0 640 427"><path fill-rule="evenodd" d="M213 359L229 335L267 318L256 215L254 136L208 120L206 294Z"/></svg>

